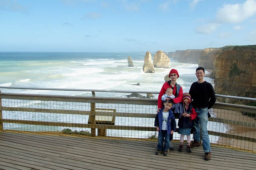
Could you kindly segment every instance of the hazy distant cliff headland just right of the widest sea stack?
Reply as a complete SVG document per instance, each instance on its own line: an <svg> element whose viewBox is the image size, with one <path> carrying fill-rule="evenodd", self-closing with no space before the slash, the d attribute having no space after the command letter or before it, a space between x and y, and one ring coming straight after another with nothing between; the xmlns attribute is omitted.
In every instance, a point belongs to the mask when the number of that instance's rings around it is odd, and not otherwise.
<svg viewBox="0 0 256 170"><path fill-rule="evenodd" d="M173 58L178 62L197 64L201 53L202 50L180 50L169 52L168 57Z"/></svg>

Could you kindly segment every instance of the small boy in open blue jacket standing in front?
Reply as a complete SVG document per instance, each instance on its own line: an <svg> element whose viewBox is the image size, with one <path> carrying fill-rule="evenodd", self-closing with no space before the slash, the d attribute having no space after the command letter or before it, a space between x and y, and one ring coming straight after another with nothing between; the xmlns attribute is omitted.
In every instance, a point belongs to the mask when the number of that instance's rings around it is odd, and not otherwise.
<svg viewBox="0 0 256 170"><path fill-rule="evenodd" d="M176 121L173 112L171 111L173 100L166 100L164 103L164 108L160 109L157 113L154 121L154 126L157 127L158 131L158 144L156 155L160 155L161 151L164 150L164 156L169 155L169 142L170 136L176 130ZM164 147L163 147L164 140Z"/></svg>

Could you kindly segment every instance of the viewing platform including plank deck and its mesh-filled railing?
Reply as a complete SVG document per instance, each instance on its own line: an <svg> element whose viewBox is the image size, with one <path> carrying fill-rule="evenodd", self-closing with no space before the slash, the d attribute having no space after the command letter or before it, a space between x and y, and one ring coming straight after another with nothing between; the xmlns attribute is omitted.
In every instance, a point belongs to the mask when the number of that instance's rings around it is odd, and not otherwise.
<svg viewBox="0 0 256 170"><path fill-rule="evenodd" d="M101 97L97 93L157 94L151 91L0 87L0 169L3 170L254 170L256 107L216 102L209 110L211 160L202 146L192 153L155 155L157 99ZM4 89L4 90L2 90ZM47 90L25 94L22 90ZM87 91L92 96L52 95ZM256 102L254 98L223 96ZM176 122L178 119L176 119ZM186 141L186 139L185 139ZM186 146L186 144L185 144Z"/></svg>

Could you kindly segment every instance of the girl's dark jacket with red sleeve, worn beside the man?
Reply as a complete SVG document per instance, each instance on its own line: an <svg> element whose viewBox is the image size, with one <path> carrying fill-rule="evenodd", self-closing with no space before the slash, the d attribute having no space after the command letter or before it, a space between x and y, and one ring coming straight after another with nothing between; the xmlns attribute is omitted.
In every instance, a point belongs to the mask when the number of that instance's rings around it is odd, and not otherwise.
<svg viewBox="0 0 256 170"><path fill-rule="evenodd" d="M185 109L186 111L186 109ZM183 111L183 112L185 112ZM181 116L178 122L179 128L192 128L194 126L194 119L196 118L197 114L193 106L189 103L189 108L187 109L186 113L190 114L190 117Z"/></svg>

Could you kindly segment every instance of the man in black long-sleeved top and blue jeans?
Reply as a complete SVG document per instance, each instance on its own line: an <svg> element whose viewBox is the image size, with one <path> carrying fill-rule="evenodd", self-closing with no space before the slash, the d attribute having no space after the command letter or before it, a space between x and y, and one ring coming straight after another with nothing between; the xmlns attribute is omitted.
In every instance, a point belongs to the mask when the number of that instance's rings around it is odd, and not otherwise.
<svg viewBox="0 0 256 170"><path fill-rule="evenodd" d="M212 85L204 80L204 68L198 67L196 69L195 75L198 78L198 81L193 82L189 89L189 94L191 95L191 98L193 100L192 105L197 113L197 118L195 119L194 122L194 142L191 144L191 147L200 146L201 127L201 135L204 148L204 159L208 161L211 159L211 147L207 131L208 109L212 108L216 101L216 98Z"/></svg>

